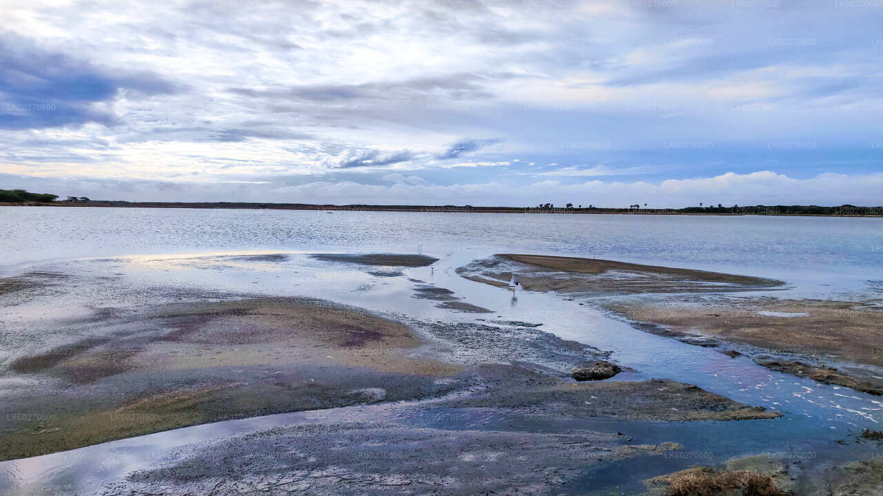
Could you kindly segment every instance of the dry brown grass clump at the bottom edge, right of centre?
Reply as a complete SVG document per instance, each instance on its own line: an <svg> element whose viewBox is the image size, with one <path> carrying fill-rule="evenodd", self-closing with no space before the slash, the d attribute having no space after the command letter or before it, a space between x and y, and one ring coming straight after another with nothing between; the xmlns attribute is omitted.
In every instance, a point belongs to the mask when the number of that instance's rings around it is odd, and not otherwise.
<svg viewBox="0 0 883 496"><path fill-rule="evenodd" d="M691 470L669 480L668 496L788 496L775 484L774 478L751 472L734 470L713 473L711 470Z"/></svg>

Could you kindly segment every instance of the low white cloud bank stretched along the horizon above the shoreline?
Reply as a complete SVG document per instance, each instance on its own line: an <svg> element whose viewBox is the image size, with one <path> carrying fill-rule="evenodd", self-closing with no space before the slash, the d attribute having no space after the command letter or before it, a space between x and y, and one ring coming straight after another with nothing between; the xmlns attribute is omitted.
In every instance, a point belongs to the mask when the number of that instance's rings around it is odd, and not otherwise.
<svg viewBox="0 0 883 496"><path fill-rule="evenodd" d="M658 184L645 181L586 181L562 184L557 180L533 184L490 181L477 184L431 184L417 176L391 173L382 177L391 184L355 181L312 181L280 186L258 183L169 183L156 181L96 180L88 177L0 176L11 188L53 192L59 196L133 201L218 201L411 204L526 207L539 203L568 202L599 207L689 207L718 203L738 205L837 206L845 203L878 207L883 173L869 175L820 174L810 178L789 177L764 170L751 174L727 173L715 177L668 179ZM807 201L806 199L810 199Z"/></svg>

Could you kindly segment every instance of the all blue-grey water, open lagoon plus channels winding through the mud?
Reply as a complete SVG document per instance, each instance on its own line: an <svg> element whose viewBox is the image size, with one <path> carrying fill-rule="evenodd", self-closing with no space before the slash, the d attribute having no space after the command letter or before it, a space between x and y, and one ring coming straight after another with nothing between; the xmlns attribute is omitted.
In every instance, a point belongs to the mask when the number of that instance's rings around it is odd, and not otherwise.
<svg viewBox="0 0 883 496"><path fill-rule="evenodd" d="M791 289L777 297L879 297L883 219L529 215L390 214L369 212L184 210L126 208L0 207L12 236L0 241L11 253L6 274L32 267L72 274L113 274L132 287L169 285L256 295L321 297L417 319L472 321L506 319L542 323L566 339L613 350L612 359L638 372L634 378L667 378L696 384L739 402L781 411L774 421L661 423L579 419L579 428L623 431L636 442L692 440L685 452L706 450L712 462L733 455L816 453L819 459L868 455L855 434L883 422L879 397L828 386L760 367L747 357L730 358L683 342L646 334L580 301L552 294L494 288L458 276L457 267L494 252L531 252L618 259L780 278ZM562 234L566 233L566 234ZM675 237L683 244L670 243ZM37 240L41 240L37 243ZM688 241L689 240L689 241ZM845 242L849 240L849 242ZM763 248L758 248L763 246ZM700 249L700 247L702 247ZM788 248L790 247L790 248ZM285 253L244 259L242 255ZM424 252L440 258L431 267L404 268L401 276L371 274L382 267L321 261L308 252ZM234 256L235 255L235 256ZM112 258L108 258L112 257ZM415 283L433 283L489 314L453 312L434 301L411 297ZM876 279L875 279L876 278ZM97 298L97 300L96 300ZM72 297L62 312L77 312L99 294ZM36 304L39 306L39 302ZM15 312L35 312L22 305ZM364 407L397 420L425 424L407 410ZM339 410L339 409L338 409ZM371 411L374 411L371 410ZM91 492L171 456L175 447L304 421L322 412L301 412L199 425L71 452L0 462L0 488L10 493ZM504 429L516 418L470 414L476 428ZM440 416L438 418L449 418ZM423 423L423 424L421 424ZM444 426L440 420L431 426ZM566 423L564 423L566 426ZM462 419L451 428L470 428ZM531 428L541 428L531 425ZM555 428L562 428L558 425ZM848 440L841 446L838 440ZM686 443L685 443L686 444ZM594 485L631 487L637 474L658 475L672 466L705 460L642 457L644 469L619 480L588 474ZM100 463L96 463L100 461ZM643 478L643 477L642 477ZM603 484L602 484L603 483ZM72 486L68 486L72 485Z"/></svg>

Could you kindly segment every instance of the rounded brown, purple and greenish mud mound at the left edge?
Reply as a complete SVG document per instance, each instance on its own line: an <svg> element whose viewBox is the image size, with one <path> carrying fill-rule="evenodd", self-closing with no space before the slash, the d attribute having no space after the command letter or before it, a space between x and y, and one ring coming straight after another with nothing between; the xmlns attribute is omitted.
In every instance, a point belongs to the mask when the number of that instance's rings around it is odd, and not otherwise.
<svg viewBox="0 0 883 496"><path fill-rule="evenodd" d="M99 319L99 322L95 320ZM409 327L315 300L161 305L69 323L101 337L11 360L0 458L232 418L447 390L459 364L421 355ZM38 412L34 414L34 412Z"/></svg>

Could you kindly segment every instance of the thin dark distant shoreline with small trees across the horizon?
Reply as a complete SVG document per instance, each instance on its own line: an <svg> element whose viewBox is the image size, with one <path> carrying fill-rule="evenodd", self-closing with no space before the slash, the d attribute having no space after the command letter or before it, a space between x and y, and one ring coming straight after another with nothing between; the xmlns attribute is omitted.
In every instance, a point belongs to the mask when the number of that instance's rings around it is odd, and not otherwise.
<svg viewBox="0 0 883 496"><path fill-rule="evenodd" d="M415 212L439 214L628 214L628 215L780 215L797 217L883 217L881 207L848 207L855 213L789 213L777 207L732 207L686 208L539 208L539 207L472 207L472 206L418 206L418 205L313 205L305 203L244 203L244 202L180 202L180 201L94 201L83 203L53 202L21 203L0 202L0 207L128 207L128 208L223 208L245 210L316 210L342 212ZM834 209L841 207L819 207ZM724 210L721 212L721 210Z"/></svg>

